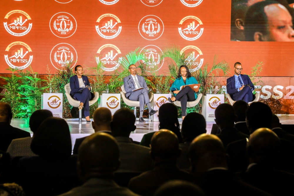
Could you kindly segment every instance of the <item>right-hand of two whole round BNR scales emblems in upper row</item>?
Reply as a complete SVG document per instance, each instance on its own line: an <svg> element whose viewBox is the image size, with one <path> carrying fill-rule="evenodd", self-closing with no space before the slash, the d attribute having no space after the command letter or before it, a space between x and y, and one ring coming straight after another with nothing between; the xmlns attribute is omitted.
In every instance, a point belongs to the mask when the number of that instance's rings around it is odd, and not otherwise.
<svg viewBox="0 0 294 196"><path fill-rule="evenodd" d="M164 25L162 20L157 16L148 15L140 20L138 29L143 38L155 40L163 34Z"/></svg>

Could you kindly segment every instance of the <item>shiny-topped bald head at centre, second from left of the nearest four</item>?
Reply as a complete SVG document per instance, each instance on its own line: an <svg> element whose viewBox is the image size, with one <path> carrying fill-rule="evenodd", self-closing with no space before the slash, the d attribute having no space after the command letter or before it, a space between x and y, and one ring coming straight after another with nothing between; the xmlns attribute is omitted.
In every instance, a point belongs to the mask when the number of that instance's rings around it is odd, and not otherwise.
<svg viewBox="0 0 294 196"><path fill-rule="evenodd" d="M151 139L151 157L157 161L174 161L181 155L176 134L168 129L160 129Z"/></svg>

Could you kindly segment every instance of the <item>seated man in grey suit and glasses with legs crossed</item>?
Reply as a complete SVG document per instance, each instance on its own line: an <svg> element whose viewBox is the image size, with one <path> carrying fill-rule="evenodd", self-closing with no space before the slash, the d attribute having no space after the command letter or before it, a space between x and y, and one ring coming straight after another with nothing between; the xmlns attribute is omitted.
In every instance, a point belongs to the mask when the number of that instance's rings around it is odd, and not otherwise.
<svg viewBox="0 0 294 196"><path fill-rule="evenodd" d="M129 66L128 71L130 72L130 75L123 78L123 86L126 91L126 98L132 101L140 102L139 122L145 122L145 120L143 119L143 111L144 111L145 104L148 106L150 116L158 112L158 110L155 111L151 108L146 81L144 77L137 75L136 65L131 64ZM143 87L143 89L136 90L141 87ZM133 91L133 90L136 90L136 91Z"/></svg>

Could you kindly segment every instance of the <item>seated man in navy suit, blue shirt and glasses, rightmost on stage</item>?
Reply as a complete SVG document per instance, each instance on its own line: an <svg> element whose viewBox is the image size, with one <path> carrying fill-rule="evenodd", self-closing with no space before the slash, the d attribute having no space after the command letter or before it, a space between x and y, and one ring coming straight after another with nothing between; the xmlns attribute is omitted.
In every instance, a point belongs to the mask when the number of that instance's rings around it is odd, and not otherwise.
<svg viewBox="0 0 294 196"><path fill-rule="evenodd" d="M248 75L241 74L242 65L236 62L234 65L235 74L227 79L227 92L234 101L243 100L246 103L255 99L252 93L254 85Z"/></svg>

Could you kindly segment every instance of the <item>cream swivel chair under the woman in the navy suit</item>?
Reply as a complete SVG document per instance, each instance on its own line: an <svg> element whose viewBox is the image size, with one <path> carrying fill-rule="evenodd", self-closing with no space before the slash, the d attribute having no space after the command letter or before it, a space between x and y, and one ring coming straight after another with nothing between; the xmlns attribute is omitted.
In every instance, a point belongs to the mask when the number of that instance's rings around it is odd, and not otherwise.
<svg viewBox="0 0 294 196"><path fill-rule="evenodd" d="M69 101L69 104L71 106L73 106L73 107L78 107L80 105L80 101L77 101L77 100L73 99L71 97L71 95L69 94L71 92L71 87L69 86L69 83L64 86L64 90L65 90L66 98ZM89 106L96 103L98 101L98 99L99 99L99 93L98 92L94 92L94 95L95 95L94 99L89 101ZM82 110L81 109L78 112L78 118L71 118L71 119L66 119L66 120L68 120L68 121L79 121L79 122L81 122L82 120L86 121L86 119L82 119Z"/></svg>

